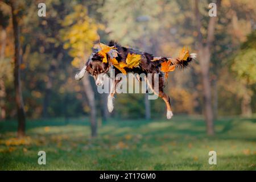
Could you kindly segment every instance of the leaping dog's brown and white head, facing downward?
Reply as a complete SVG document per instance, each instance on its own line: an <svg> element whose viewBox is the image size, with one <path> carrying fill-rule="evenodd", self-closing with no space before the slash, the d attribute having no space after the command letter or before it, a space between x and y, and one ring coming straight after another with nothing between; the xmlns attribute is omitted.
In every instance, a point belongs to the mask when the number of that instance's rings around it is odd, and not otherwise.
<svg viewBox="0 0 256 182"><path fill-rule="evenodd" d="M102 86L104 84L104 77L109 71L109 64L102 63L103 56L97 52L93 52L86 62L86 71L93 76L96 85Z"/></svg>

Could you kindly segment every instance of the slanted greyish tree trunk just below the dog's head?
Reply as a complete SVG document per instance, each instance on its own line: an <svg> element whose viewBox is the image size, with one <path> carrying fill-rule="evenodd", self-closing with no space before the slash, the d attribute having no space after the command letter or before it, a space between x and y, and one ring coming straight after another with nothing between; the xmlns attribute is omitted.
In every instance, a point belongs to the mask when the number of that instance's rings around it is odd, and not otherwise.
<svg viewBox="0 0 256 182"><path fill-rule="evenodd" d="M84 78L82 79L82 84L84 85L84 91L90 106L90 127L92 131L92 137L97 137L96 103L88 74L85 74Z"/></svg>

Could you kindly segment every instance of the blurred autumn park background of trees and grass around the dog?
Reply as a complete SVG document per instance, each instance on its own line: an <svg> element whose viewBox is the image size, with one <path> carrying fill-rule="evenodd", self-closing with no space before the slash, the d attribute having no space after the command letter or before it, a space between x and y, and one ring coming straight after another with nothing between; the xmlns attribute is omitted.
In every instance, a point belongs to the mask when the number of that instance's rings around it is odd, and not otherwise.
<svg viewBox="0 0 256 182"><path fill-rule="evenodd" d="M0 169L255 170L255 17L254 0L0 1ZM110 114L92 77L75 81L93 44L109 40L199 55L169 74L171 121L144 94L116 95Z"/></svg>

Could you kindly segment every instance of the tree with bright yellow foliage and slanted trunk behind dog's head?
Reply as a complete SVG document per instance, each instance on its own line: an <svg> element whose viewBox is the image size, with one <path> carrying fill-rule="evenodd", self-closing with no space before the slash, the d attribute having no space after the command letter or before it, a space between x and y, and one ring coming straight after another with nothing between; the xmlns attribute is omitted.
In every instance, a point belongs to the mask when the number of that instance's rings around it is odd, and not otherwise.
<svg viewBox="0 0 256 182"><path fill-rule="evenodd" d="M74 12L65 16L63 20L64 29L61 30L64 48L69 48L69 55L74 57L72 65L76 68L85 63L91 52L93 42L99 40L97 30L102 28L87 15L87 10L82 5L74 6ZM84 91L90 106L90 123L92 137L97 136L96 101L89 76L86 74L82 80Z"/></svg>

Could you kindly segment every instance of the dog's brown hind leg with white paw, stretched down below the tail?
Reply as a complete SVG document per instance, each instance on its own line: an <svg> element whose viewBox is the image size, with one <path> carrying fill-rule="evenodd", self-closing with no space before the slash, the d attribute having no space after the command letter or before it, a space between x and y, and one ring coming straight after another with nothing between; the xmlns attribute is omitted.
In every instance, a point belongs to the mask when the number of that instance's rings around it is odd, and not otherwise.
<svg viewBox="0 0 256 182"><path fill-rule="evenodd" d="M159 90L158 90L158 92L156 92L156 90L154 90L154 81L152 81L150 83L150 81L148 81L148 79L147 79L147 84L150 87L150 89L154 92L154 94L161 97L163 99L163 101L166 103L166 109L167 109L166 117L167 117L167 119L171 119L174 114L172 114L170 97L167 96L167 94L164 93L164 91L163 91L164 77L159 77Z"/></svg>

